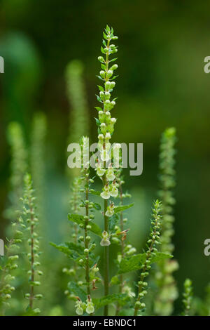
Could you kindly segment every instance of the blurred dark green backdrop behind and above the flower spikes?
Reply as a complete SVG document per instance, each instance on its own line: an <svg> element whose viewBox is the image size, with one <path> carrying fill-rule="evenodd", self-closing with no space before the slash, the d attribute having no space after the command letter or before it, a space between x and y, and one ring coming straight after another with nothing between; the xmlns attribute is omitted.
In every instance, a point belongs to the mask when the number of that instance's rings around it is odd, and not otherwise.
<svg viewBox="0 0 210 330"><path fill-rule="evenodd" d="M108 23L119 46L113 140L144 143L144 173L126 173L126 187L135 202L129 213L135 229L130 239L139 243L140 251L158 190L160 136L168 126L176 126L176 280L182 287L183 279L190 277L195 293L203 296L210 275L209 258L203 253L204 239L210 237L210 74L203 70L204 58L210 55L209 10L208 1L193 0L0 1L0 55L5 60L5 73L0 75L1 232L10 174L6 127L19 121L29 140L33 113L41 110L48 119L46 235L51 241L62 240L68 211L63 204L69 194L64 176L69 132L64 71L70 60L83 61L94 140L97 56Z"/></svg>

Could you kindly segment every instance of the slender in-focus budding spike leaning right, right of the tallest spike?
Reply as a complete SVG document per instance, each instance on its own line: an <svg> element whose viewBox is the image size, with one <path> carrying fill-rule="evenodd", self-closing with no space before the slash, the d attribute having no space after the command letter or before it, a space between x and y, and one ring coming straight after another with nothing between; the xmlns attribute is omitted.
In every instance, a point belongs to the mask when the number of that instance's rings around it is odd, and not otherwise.
<svg viewBox="0 0 210 330"><path fill-rule="evenodd" d="M160 244L160 226L161 226L160 208L161 208L161 202L159 202L157 199L154 202L154 207L153 207L153 219L151 221L151 235L147 241L148 249L146 251L146 259L144 264L141 266L142 270L140 275L140 281L138 282L139 291L138 291L138 297L135 303L135 310L134 310L135 316L137 316L139 310L143 310L146 307L145 303L142 303L141 300L144 298L144 296L147 293L146 287L148 286L148 282L145 281L145 278L149 275L149 271L151 270L152 258L157 255L158 249L156 246Z"/></svg>

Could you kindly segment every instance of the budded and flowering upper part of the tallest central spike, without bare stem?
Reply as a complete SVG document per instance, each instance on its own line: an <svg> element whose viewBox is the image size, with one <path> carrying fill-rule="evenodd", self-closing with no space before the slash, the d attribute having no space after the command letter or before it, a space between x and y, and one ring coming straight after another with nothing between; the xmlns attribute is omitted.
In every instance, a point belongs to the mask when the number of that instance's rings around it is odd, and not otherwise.
<svg viewBox="0 0 210 330"><path fill-rule="evenodd" d="M103 107L96 107L99 112L99 119L97 119L97 126L99 131L99 161L97 163L97 175L99 177L105 177L103 192L101 197L103 199L109 199L110 197L118 196L118 184L116 183L116 176L114 174L113 166L111 165L111 143L110 139L114 131L114 126L116 124L116 118L111 117L111 110L116 105L116 99L111 100L111 93L113 88L116 86L113 79L114 70L118 68L118 65L111 65L111 62L115 61L116 58L112 60L109 59L109 55L117 52L115 45L111 44L112 40L116 40L118 37L114 36L113 29L106 27L104 32L103 46L101 48L104 56L99 56L98 60L102 63L102 70L99 73L99 79L104 81L104 86L99 86L99 95L97 99L102 103ZM104 162L108 164L108 169L104 169Z"/></svg>

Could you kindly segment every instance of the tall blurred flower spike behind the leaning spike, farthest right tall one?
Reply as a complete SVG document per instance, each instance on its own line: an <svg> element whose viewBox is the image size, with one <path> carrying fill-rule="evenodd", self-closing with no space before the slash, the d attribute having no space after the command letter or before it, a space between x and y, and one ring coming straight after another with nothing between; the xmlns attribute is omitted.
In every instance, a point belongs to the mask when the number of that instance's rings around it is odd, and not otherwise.
<svg viewBox="0 0 210 330"><path fill-rule="evenodd" d="M160 192L162 200L162 232L160 251L172 254L174 244L174 215L173 208L176 200L174 199L175 180L175 143L176 129L167 128L162 133L160 143ZM176 260L161 260L155 270L155 282L158 286L157 295L154 301L154 312L156 315L171 315L174 310L174 301L179 293L173 272L179 268Z"/></svg>

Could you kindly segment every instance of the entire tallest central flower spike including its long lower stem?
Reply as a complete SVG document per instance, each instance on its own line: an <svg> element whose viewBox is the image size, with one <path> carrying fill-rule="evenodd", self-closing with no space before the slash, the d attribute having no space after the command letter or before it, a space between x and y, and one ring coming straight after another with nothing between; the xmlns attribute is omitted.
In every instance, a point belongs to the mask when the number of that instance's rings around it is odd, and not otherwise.
<svg viewBox="0 0 210 330"><path fill-rule="evenodd" d="M96 107L99 112L99 119L97 119L98 133L99 133L99 152L100 152L100 166L106 169L107 162L111 162L111 136L114 131L114 125L116 123L116 118L111 118L111 111L116 105L116 99L111 99L111 93L116 83L113 81L117 76L114 75L114 71L118 68L117 64L114 64L117 59L110 59L110 55L115 54L118 49L114 44L111 44L113 40L118 39L114 36L113 28L106 26L104 32L103 46L101 47L102 56L99 56L98 60L101 62L102 70L99 72L99 79L104 82L104 86L99 87L99 95L97 95L97 100L102 104L102 107ZM104 174L101 176L102 171L98 175L103 180L103 191L101 197L104 199L104 237L102 239L101 245L104 246L104 295L109 294L109 213L108 209L108 199L113 196L118 196L118 187L113 180L115 179L113 171L111 168L106 169ZM110 210L108 210L109 212ZM104 315L108 315L108 305L104 307Z"/></svg>

